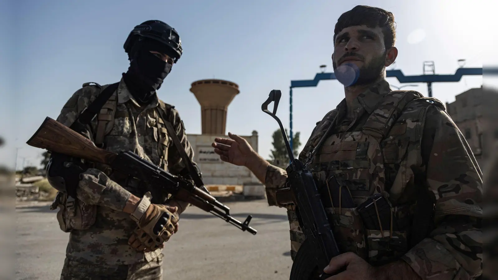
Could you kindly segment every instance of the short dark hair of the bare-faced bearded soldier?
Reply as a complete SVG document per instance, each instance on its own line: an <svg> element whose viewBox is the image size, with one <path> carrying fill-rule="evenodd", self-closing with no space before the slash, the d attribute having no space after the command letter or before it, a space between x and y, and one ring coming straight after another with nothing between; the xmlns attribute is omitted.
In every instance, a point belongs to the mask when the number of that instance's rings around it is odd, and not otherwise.
<svg viewBox="0 0 498 280"><path fill-rule="evenodd" d="M394 42L396 41L396 23L394 22L392 12L365 5L358 5L341 14L334 29L334 45L336 36L341 30L355 25L382 28L385 48L388 49L394 46Z"/></svg>

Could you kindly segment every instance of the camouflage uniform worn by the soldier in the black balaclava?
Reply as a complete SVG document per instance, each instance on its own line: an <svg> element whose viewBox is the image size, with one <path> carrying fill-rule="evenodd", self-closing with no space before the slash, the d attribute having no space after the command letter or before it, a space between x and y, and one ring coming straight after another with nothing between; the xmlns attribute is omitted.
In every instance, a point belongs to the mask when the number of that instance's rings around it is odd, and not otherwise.
<svg viewBox="0 0 498 280"><path fill-rule="evenodd" d="M70 126L107 86L84 84L64 105L57 121ZM116 102L116 112L110 112L114 114L114 122L107 122L106 150L116 153L131 150L172 174L185 172L185 165L159 117L163 115L157 96L152 103L140 107L122 79L110 100ZM187 155L193 159L194 152L178 112L174 107L164 105L169 109L169 122ZM84 132L90 140L95 139L97 119ZM73 279L73 276L88 277L78 279L141 279L145 276L145 279L162 279L161 249L148 253L132 249L128 239L137 225L129 214L122 212L130 194L142 197L147 190L138 181L126 181L125 176L106 166L95 164L94 167L83 173L77 188L78 202L83 205L80 207L89 210L86 215L93 215L89 220L94 223L85 230L71 231L61 279ZM160 203L166 199L167 195L164 195Z"/></svg>

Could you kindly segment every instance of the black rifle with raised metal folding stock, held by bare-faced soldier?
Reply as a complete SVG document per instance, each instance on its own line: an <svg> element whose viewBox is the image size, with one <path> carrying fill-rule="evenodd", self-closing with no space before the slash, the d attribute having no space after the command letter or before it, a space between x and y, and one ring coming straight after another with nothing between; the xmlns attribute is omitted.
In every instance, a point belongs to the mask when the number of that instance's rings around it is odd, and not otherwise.
<svg viewBox="0 0 498 280"><path fill-rule="evenodd" d="M261 105L261 110L278 122L291 160L285 169L286 188L277 191L277 200L287 204L293 203L296 206L299 225L306 237L292 264L290 280L311 280L317 277L323 280L331 275L325 273L315 275L315 273L323 271L330 260L340 252L313 175L299 159L294 158L285 130L276 116L281 95L279 90L272 90L268 99ZM273 113L268 111L268 105L272 101L275 102Z"/></svg>

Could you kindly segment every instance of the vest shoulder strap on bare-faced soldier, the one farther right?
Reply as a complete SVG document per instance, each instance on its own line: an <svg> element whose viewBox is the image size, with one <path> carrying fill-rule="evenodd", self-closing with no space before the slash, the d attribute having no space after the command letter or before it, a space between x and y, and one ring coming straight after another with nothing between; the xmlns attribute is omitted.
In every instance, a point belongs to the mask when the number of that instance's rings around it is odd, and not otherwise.
<svg viewBox="0 0 498 280"><path fill-rule="evenodd" d="M362 128L363 132L377 140L385 138L406 104L422 97L423 95L417 91L391 91L377 103Z"/></svg>

